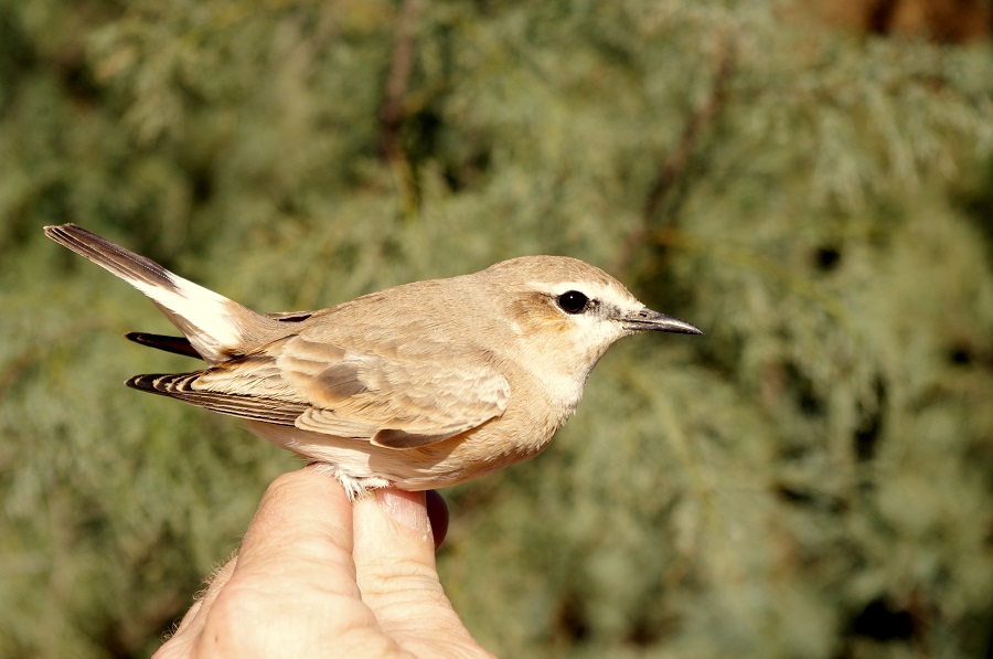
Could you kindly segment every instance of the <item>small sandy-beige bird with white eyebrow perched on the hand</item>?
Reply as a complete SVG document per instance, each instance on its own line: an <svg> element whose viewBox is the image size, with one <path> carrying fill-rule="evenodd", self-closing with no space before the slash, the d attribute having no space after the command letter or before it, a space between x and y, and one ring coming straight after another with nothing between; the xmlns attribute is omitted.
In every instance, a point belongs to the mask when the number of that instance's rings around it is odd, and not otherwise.
<svg viewBox="0 0 993 659"><path fill-rule="evenodd" d="M182 337L130 332L205 369L129 387L242 418L341 481L429 490L537 455L618 339L702 334L567 256L520 256L318 311L258 313L75 224L56 243L120 277Z"/></svg>

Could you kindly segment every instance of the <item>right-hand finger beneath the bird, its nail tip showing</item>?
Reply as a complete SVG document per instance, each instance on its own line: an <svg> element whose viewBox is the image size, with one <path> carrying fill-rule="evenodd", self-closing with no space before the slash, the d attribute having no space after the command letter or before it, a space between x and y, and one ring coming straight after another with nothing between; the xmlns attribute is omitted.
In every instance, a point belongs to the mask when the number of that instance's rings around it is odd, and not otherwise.
<svg viewBox="0 0 993 659"><path fill-rule="evenodd" d="M416 656L438 656L446 647L484 653L438 581L424 492L391 488L357 499L354 531L359 587L387 636Z"/></svg>

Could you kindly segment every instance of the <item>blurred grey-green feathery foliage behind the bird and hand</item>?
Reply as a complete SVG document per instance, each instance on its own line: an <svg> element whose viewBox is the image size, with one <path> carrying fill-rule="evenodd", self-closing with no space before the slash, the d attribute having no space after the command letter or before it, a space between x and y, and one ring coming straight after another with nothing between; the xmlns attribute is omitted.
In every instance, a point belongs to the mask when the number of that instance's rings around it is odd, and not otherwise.
<svg viewBox="0 0 993 659"><path fill-rule="evenodd" d="M0 656L148 655L297 465L120 385L191 362L76 222L261 311L547 253L707 332L445 492L498 655L990 657L990 3L830 6L0 0Z"/></svg>

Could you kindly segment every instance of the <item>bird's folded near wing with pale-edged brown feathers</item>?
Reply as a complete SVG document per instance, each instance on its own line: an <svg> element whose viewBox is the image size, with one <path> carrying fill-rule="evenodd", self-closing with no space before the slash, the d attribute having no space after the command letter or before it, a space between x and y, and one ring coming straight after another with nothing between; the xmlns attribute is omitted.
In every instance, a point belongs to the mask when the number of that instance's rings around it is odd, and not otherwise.
<svg viewBox="0 0 993 659"><path fill-rule="evenodd" d="M492 366L445 365L444 354L445 346L401 358L295 336L200 373L128 384L224 414L410 448L495 418L510 400L506 379Z"/></svg>

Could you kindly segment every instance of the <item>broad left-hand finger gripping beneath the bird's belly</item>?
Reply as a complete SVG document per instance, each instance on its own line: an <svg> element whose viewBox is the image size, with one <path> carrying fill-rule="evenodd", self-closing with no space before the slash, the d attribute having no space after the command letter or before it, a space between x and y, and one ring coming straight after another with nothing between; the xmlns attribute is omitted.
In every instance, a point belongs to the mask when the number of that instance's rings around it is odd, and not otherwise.
<svg viewBox="0 0 993 659"><path fill-rule="evenodd" d="M361 602L352 507L334 478L305 468L276 479L205 615L195 650L212 657L310 657L391 649Z"/></svg>

